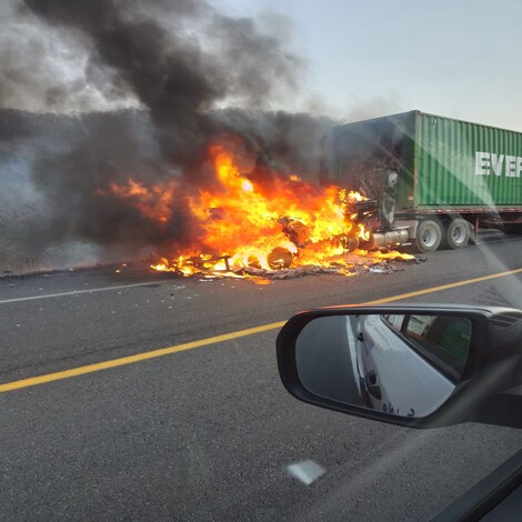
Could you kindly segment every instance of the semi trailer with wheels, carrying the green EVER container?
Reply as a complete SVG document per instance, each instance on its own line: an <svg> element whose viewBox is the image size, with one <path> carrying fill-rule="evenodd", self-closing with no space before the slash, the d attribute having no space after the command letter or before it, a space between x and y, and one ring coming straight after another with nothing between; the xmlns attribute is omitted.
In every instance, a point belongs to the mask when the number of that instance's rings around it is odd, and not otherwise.
<svg viewBox="0 0 522 522"><path fill-rule="evenodd" d="M461 249L480 228L522 233L522 133L410 111L335 127L321 178L362 194L361 248Z"/></svg>

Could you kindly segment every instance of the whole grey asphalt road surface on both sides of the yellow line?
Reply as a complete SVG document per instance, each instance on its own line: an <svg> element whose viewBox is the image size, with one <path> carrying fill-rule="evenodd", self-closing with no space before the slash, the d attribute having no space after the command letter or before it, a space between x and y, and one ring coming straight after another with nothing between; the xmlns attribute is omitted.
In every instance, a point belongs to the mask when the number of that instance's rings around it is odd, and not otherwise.
<svg viewBox="0 0 522 522"><path fill-rule="evenodd" d="M522 267L491 235L392 274L257 285L113 270L0 280L0 382L47 375ZM521 307L522 275L410 295ZM52 297L51 297L52 295ZM520 431L410 431L317 409L278 377L277 328L0 393L1 520L424 520L520 450ZM305 485L288 466L313 461Z"/></svg>

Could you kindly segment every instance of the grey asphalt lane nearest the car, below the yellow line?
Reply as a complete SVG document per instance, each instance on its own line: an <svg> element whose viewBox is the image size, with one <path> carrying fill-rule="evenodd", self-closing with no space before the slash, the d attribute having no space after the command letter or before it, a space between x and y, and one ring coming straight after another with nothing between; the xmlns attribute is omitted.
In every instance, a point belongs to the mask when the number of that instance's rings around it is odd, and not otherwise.
<svg viewBox="0 0 522 522"><path fill-rule="evenodd" d="M1 396L2 520L425 520L520 448L302 404L275 332ZM310 486L285 473L312 460Z"/></svg>

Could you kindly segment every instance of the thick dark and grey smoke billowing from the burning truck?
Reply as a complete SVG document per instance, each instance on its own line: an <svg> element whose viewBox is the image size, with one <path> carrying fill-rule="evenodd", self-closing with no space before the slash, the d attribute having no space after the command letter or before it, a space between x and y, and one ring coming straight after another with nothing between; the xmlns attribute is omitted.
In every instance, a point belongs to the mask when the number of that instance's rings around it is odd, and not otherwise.
<svg viewBox="0 0 522 522"><path fill-rule="evenodd" d="M281 19L274 33L199 0L10 0L0 10L0 268L49 252L67 262L72 244L100 260L182 244L183 204L160 229L97 191L129 177L211 183L218 138L240 137L252 175L260 165L269 177L317 173L331 122L270 110L305 69Z"/></svg>

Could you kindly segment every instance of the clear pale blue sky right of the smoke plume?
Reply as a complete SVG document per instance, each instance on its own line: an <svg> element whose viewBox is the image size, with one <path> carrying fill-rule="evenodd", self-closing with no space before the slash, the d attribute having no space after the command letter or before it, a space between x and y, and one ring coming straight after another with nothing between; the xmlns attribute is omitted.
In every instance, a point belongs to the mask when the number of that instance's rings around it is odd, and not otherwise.
<svg viewBox="0 0 522 522"><path fill-rule="evenodd" d="M288 32L307 63L292 109L347 121L418 109L522 131L520 0L214 3Z"/></svg>

